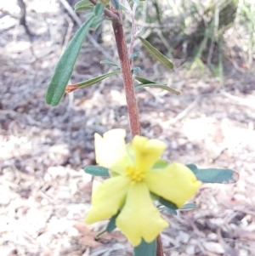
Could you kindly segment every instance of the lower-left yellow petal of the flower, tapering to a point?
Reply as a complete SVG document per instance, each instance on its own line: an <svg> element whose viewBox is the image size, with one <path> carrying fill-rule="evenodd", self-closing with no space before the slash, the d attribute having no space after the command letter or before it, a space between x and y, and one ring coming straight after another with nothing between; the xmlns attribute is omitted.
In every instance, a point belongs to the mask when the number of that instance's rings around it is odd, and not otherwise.
<svg viewBox="0 0 255 256"><path fill-rule="evenodd" d="M115 215L125 202L130 179L116 176L106 179L92 195L92 209L85 221L88 224Z"/></svg>

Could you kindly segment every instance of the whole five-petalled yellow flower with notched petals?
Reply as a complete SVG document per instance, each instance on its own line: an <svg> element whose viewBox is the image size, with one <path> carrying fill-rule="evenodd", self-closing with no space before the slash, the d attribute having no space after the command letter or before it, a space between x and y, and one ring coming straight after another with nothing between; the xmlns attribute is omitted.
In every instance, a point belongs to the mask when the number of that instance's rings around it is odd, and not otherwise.
<svg viewBox="0 0 255 256"><path fill-rule="evenodd" d="M113 129L103 138L95 134L95 155L99 166L109 168L112 178L106 179L92 196L93 208L85 221L88 224L116 218L132 245L141 239L152 242L168 224L154 206L150 192L173 202L178 208L198 190L201 182L184 165L173 162L166 168L152 168L166 145L158 139L135 136L125 144L126 132Z"/></svg>

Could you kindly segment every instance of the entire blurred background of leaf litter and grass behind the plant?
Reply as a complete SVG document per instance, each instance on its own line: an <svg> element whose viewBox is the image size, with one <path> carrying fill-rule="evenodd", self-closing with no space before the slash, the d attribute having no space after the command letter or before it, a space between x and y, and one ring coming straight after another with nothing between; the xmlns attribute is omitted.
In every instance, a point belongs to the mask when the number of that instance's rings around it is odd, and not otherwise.
<svg viewBox="0 0 255 256"><path fill-rule="evenodd" d="M85 225L94 164L94 133L128 131L121 76L44 96L59 56L86 19L76 1L0 3L0 255L132 255L118 231L94 241L107 222ZM255 5L252 0L140 3L141 35L173 60L173 71L141 52L139 76L166 82L137 91L142 133L167 143L164 158L233 168L234 185L202 185L198 206L165 216L166 256L255 255ZM127 43L131 22L123 16ZM90 31L71 83L111 71L118 62L111 22Z"/></svg>

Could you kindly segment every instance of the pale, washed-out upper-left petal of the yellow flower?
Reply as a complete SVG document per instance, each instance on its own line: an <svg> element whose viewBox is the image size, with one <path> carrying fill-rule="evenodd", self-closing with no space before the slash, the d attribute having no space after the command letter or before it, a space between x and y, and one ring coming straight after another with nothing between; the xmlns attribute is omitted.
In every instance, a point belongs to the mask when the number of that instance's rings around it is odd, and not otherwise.
<svg viewBox="0 0 255 256"><path fill-rule="evenodd" d="M114 162L127 155L125 136L124 129L112 129L103 137L94 134L95 156L99 166L111 168Z"/></svg>

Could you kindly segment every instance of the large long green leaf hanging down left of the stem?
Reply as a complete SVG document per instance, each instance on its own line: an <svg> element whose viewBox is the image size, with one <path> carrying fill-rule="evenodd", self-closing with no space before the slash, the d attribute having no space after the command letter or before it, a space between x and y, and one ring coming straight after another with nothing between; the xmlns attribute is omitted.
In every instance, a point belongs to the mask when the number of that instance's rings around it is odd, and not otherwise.
<svg viewBox="0 0 255 256"><path fill-rule="evenodd" d="M71 77L73 67L82 48L83 40L86 37L93 20L94 17L90 17L78 29L55 66L54 74L48 84L46 93L46 102L49 105L58 105L65 94L65 87Z"/></svg>

